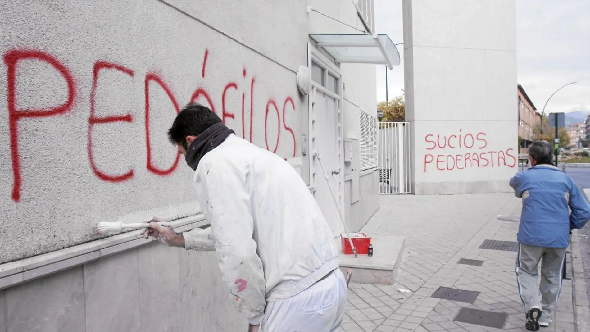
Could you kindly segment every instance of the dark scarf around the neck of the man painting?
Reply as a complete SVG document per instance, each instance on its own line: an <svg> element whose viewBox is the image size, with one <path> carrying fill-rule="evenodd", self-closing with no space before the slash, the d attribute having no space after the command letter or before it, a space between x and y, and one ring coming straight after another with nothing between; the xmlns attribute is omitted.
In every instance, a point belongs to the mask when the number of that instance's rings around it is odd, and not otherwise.
<svg viewBox="0 0 590 332"><path fill-rule="evenodd" d="M186 152L185 160L188 166L196 170L199 162L205 154L223 143L225 139L231 134L235 134L233 130L229 129L222 122L215 123L213 126L205 129L199 134Z"/></svg>

